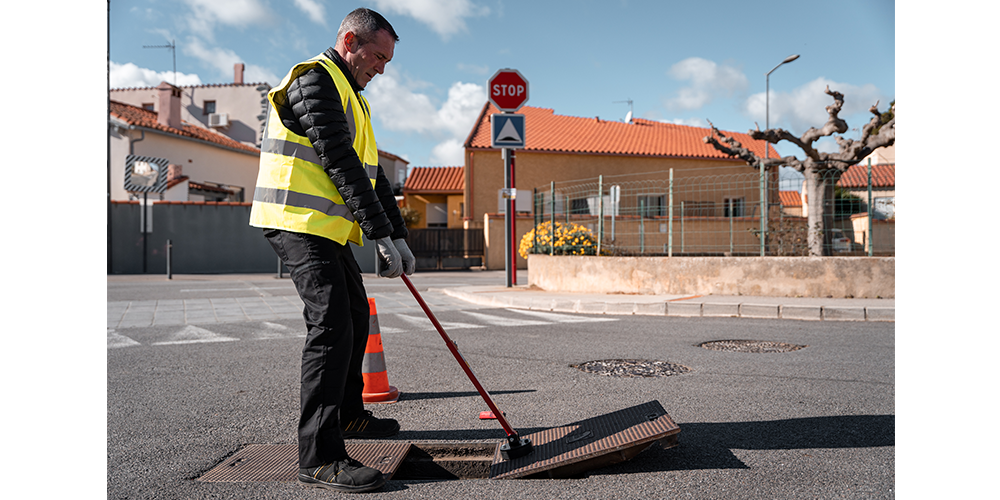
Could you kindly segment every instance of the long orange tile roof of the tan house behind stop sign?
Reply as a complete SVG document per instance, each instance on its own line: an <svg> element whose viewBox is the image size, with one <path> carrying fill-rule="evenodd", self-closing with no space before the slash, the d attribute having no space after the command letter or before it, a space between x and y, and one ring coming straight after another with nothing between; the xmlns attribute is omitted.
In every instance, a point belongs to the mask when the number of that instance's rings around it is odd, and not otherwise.
<svg viewBox="0 0 1000 500"><path fill-rule="evenodd" d="M479 121L473 127L466 148L490 147L490 115L497 113L492 104L483 106ZM682 158L730 159L706 144L702 138L712 135L712 129L675 125L636 118L624 123L599 118L580 118L555 114L549 108L524 106L518 110L525 120L525 151L561 151L574 153L620 154L629 156L666 156ZM747 134L723 131L760 156L764 142ZM771 158L779 155L774 147Z"/></svg>

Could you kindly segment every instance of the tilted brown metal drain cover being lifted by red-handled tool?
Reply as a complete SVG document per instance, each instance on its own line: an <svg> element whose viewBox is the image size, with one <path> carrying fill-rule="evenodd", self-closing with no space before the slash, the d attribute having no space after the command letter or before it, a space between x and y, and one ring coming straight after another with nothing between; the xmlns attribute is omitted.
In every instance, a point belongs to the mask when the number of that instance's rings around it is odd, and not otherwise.
<svg viewBox="0 0 1000 500"><path fill-rule="evenodd" d="M531 439L532 452L502 461L497 449L490 478L573 477L629 460L656 442L664 449L677 446L680 431L659 401L650 401L522 436Z"/></svg>

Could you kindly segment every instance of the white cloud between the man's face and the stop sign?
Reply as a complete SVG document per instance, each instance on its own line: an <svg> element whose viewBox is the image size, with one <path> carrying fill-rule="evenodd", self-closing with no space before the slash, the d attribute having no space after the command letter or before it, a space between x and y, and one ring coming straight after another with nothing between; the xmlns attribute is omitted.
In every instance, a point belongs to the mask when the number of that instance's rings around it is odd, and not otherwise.
<svg viewBox="0 0 1000 500"><path fill-rule="evenodd" d="M455 82L448 89L447 99L437 105L430 96L417 91L424 88L426 83L408 80L398 66L390 66L385 74L368 84L365 95L371 102L373 115L387 130L438 140L430 161L461 165L462 144L487 101L486 89L474 83Z"/></svg>

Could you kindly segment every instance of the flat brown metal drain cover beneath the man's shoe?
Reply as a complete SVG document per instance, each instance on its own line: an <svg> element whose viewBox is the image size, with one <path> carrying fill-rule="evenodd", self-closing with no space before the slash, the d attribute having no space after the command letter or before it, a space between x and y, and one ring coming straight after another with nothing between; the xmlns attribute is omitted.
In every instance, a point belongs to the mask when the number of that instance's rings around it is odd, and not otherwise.
<svg viewBox="0 0 1000 500"><path fill-rule="evenodd" d="M347 443L347 454L378 469L391 479L406 457L410 443ZM294 444L251 444L212 468L198 481L250 483L295 481L299 474L299 447Z"/></svg>

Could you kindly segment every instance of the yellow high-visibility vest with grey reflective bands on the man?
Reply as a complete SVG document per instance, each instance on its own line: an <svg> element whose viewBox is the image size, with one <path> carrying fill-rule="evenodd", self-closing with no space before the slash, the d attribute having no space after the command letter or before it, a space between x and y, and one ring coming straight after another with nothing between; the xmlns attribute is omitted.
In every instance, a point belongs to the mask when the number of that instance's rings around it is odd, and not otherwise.
<svg viewBox="0 0 1000 500"><path fill-rule="evenodd" d="M278 117L275 105L276 94L284 96L292 81L317 66L326 69L337 84L340 102L344 104L344 114L354 139L354 150L368 171L372 187L375 187L378 148L375 146L368 101L354 93L336 63L319 55L295 65L281 84L267 94L270 106L261 139L260 172L250 208L250 225L314 234L342 245L348 241L361 245L361 226L323 170L309 138L286 128Z"/></svg>

